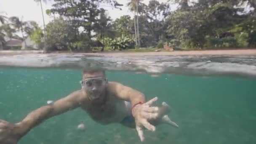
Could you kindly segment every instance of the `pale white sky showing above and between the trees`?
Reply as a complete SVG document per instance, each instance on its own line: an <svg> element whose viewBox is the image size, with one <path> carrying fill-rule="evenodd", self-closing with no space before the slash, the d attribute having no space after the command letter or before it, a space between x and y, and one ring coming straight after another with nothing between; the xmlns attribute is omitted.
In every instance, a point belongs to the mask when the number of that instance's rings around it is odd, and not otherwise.
<svg viewBox="0 0 256 144"><path fill-rule="evenodd" d="M43 1L43 0L42 0ZM53 0L52 0L53 1ZM111 8L107 5L103 5L104 9L108 10L109 16L112 19L119 18L123 15L131 15L132 13L126 6L129 0L117 0L118 3L123 4L122 10ZM158 0L159 2L166 2L167 0ZM43 2L42 2L43 3ZM143 3L148 4L149 0L143 0ZM45 16L45 24L53 19L45 12L47 9L51 9L53 2L48 0L47 3L43 3L43 12ZM18 16L23 21L36 21L40 27L43 27L42 13L40 3L36 3L34 0L0 0L0 14L8 17Z"/></svg>

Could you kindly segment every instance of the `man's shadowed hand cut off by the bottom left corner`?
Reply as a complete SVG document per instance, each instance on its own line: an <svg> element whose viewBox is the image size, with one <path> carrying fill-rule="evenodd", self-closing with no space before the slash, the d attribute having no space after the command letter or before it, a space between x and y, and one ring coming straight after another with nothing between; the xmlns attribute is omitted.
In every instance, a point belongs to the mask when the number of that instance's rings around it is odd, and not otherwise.
<svg viewBox="0 0 256 144"><path fill-rule="evenodd" d="M19 124L0 120L0 144L17 144L21 138Z"/></svg>

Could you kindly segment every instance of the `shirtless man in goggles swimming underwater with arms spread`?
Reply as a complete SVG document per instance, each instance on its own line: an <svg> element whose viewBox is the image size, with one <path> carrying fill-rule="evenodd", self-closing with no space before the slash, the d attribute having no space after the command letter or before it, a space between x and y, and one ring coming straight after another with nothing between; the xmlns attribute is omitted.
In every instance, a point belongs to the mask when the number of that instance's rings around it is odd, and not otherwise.
<svg viewBox="0 0 256 144"><path fill-rule="evenodd" d="M142 128L155 131L154 125L168 124L178 127L167 113L169 106L163 102L153 107L157 97L145 102L143 93L116 82L108 82L104 71L83 71L82 88L51 104L30 112L19 123L0 120L0 144L17 144L32 128L50 117L75 108L84 109L96 122L103 125L121 123L136 128L144 141Z"/></svg>

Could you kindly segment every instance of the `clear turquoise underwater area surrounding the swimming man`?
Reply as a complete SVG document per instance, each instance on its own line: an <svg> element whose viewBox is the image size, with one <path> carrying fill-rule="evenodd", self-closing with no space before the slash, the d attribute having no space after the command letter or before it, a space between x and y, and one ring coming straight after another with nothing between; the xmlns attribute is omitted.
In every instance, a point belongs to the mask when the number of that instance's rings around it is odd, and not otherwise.
<svg viewBox="0 0 256 144"><path fill-rule="evenodd" d="M207 60L208 61L208 60ZM247 64L249 65L249 64ZM246 71L246 69L244 69ZM253 69L252 69L253 71ZM171 72L170 72L171 73ZM173 72L178 73L178 72ZM189 75L107 71L117 81L159 97L172 108L169 117L179 125L144 131L147 144L255 144L256 80L253 76ZM80 88L79 68L0 68L0 119L19 122L29 112ZM85 123L85 131L77 125ZM135 130L100 125L81 109L46 120L19 144L141 144Z"/></svg>

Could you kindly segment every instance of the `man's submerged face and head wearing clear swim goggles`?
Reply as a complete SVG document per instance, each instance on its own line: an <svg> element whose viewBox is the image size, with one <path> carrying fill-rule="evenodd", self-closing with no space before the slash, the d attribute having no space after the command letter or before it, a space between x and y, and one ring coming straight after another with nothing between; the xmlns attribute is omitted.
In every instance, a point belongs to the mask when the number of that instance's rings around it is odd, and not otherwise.
<svg viewBox="0 0 256 144"><path fill-rule="evenodd" d="M104 99L107 80L103 72L84 73L81 85L92 101Z"/></svg>

